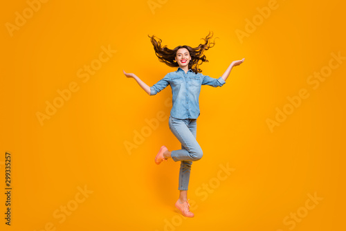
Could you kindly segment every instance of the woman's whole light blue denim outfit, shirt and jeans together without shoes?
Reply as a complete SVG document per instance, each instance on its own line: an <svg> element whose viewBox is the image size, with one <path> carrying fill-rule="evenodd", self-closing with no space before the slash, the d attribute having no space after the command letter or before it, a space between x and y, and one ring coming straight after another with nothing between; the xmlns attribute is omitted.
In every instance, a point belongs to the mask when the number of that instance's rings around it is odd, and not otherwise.
<svg viewBox="0 0 346 231"><path fill-rule="evenodd" d="M203 151L196 140L201 85L217 87L224 84L225 80L221 77L215 79L194 73L191 69L185 73L179 67L150 87L150 95L156 95L168 85L172 88L173 105L169 125L174 136L181 142L181 149L171 152L175 162L181 161L178 190L188 190L192 162L200 160L203 156Z"/></svg>

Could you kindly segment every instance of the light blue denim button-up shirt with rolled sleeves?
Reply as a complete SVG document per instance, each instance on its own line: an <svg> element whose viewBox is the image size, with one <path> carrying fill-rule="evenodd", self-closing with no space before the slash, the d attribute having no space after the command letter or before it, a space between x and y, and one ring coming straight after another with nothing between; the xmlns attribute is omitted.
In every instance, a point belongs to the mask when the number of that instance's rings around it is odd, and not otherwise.
<svg viewBox="0 0 346 231"><path fill-rule="evenodd" d="M180 67L178 70L167 73L162 80L150 86L150 95L156 95L166 86L172 88L172 109L170 115L178 119L197 119L199 117L199 93L201 85L222 86L226 82L218 79L194 73L191 69L185 73Z"/></svg>

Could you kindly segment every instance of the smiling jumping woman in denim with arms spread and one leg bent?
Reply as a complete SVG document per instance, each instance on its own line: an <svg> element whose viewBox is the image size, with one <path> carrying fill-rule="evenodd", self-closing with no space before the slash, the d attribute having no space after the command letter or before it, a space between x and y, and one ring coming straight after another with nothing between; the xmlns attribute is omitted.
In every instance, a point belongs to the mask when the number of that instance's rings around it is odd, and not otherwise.
<svg viewBox="0 0 346 231"><path fill-rule="evenodd" d="M162 80L159 80L153 86L148 86L133 73L123 71L126 77L134 78L149 95L156 95L168 85L172 88L172 109L170 111L169 126L174 136L181 142L181 149L169 151L167 147L162 146L156 154L155 163L158 165L168 158L172 158L174 162L181 161L178 187L180 195L175 206L183 216L187 217L194 216L190 212L190 204L188 203L188 184L192 161L200 160L203 156L203 151L196 140L197 118L200 114L199 93L201 85L214 87L224 85L233 66L238 66L244 62L244 59L233 61L224 75L218 79L203 75L199 65L208 62L203 52L215 45L214 42L210 41L211 37L212 34L209 33L203 39L203 44L199 44L196 48L177 46L173 50L167 48L167 46L162 46L162 40L157 39L154 35L150 37L158 59L168 66L179 67L176 71L167 73Z"/></svg>

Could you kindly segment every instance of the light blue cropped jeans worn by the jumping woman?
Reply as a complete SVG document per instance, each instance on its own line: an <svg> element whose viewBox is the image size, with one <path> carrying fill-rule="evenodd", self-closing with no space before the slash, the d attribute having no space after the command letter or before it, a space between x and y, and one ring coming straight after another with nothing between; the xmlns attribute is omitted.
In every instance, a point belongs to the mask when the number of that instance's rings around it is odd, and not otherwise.
<svg viewBox="0 0 346 231"><path fill-rule="evenodd" d="M203 151L196 140L197 119L177 119L170 116L168 124L181 142L181 149L171 153L172 159L181 161L178 190L188 190L192 161L200 160Z"/></svg>

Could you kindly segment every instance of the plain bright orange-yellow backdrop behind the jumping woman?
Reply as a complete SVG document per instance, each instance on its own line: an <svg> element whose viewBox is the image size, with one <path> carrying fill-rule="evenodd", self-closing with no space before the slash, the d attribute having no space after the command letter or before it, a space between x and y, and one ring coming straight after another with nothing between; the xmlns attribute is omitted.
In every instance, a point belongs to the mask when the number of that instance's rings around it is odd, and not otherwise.
<svg viewBox="0 0 346 231"><path fill-rule="evenodd" d="M235 31L246 31L246 19L268 1L153 1L153 11L147 0L47 1L12 37L6 23L15 24L28 3L1 7L1 230L50 230L47 223L51 230L345 230L345 60L318 89L307 84L331 53L346 56L345 3L278 0L241 42ZM245 61L221 88L202 86L197 140L204 156L192 165L188 192L195 217L182 219L174 210L180 163L154 163L161 145L180 147L168 127L170 87L149 96L122 69L152 86L176 68L158 62L147 35L174 48L197 46L209 31L219 39L203 74L219 77L233 60ZM116 53L83 82L78 70L102 46ZM71 82L78 91L41 126L37 111L45 113L46 101ZM300 89L309 98L271 132L267 118ZM165 120L148 130L158 112ZM143 128L147 137L126 149ZM3 219L6 151L10 227ZM235 171L220 181L227 163ZM203 200L197 190L212 182L219 184L202 190ZM60 223L53 213L84 186L93 193ZM314 193L323 198L318 205L294 228L284 224Z"/></svg>

